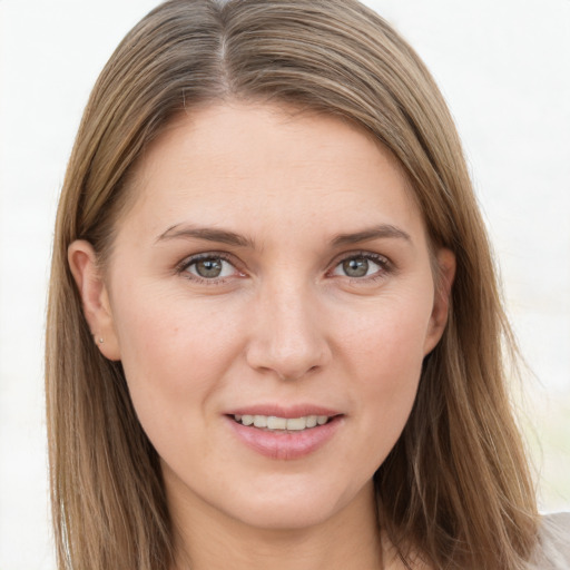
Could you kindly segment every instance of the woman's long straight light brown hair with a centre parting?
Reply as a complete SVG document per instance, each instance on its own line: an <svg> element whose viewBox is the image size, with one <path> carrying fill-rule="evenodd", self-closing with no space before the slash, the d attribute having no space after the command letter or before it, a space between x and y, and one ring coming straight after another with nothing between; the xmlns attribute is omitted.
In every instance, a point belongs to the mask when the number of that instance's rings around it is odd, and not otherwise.
<svg viewBox="0 0 570 570"><path fill-rule="evenodd" d="M451 315L375 474L381 524L434 568L523 568L537 508L505 389L512 346L461 144L422 61L355 0L170 0L117 48L86 108L59 204L47 326L47 406L60 570L167 570L159 462L120 363L92 342L67 249L105 263L145 147L183 110L276 101L360 125L405 169L434 246L456 256Z"/></svg>

